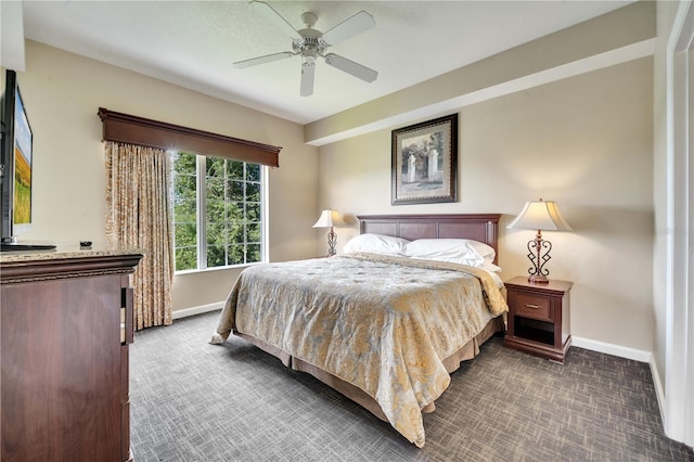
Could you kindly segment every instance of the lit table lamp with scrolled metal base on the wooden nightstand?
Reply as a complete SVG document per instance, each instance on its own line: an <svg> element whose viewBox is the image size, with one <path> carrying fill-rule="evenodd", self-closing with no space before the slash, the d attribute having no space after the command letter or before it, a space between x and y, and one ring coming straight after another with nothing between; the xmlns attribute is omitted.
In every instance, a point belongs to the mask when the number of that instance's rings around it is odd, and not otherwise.
<svg viewBox="0 0 694 462"><path fill-rule="evenodd" d="M549 270L544 269L550 258L552 243L542 239L542 231L573 231L568 226L560 208L553 201L530 201L526 202L520 214L506 227L506 229L528 229L537 230L538 233L532 241L528 242L528 258L532 267L528 268L528 281L531 283L548 283ZM544 254L541 249L544 248Z"/></svg>

